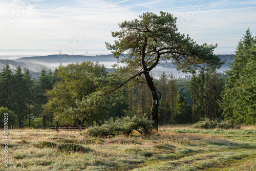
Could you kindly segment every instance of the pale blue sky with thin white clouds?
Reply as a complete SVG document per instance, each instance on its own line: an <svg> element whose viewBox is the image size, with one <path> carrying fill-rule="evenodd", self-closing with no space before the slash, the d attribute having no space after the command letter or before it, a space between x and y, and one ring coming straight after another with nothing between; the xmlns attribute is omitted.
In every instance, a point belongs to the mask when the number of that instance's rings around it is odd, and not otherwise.
<svg viewBox="0 0 256 171"><path fill-rule="evenodd" d="M233 54L248 28L256 33L255 0L0 0L0 58L111 54L105 42L119 23L160 11L198 44L218 44L215 54Z"/></svg>

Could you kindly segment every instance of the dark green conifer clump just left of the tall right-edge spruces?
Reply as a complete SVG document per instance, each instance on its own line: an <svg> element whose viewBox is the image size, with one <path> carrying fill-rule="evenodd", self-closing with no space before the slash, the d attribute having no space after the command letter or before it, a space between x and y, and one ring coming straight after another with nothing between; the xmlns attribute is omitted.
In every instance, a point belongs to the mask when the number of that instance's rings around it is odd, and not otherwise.
<svg viewBox="0 0 256 171"><path fill-rule="evenodd" d="M200 118L218 119L221 117L220 105L223 79L221 74L201 70L199 75L193 74L189 81L192 98L193 122Z"/></svg>

